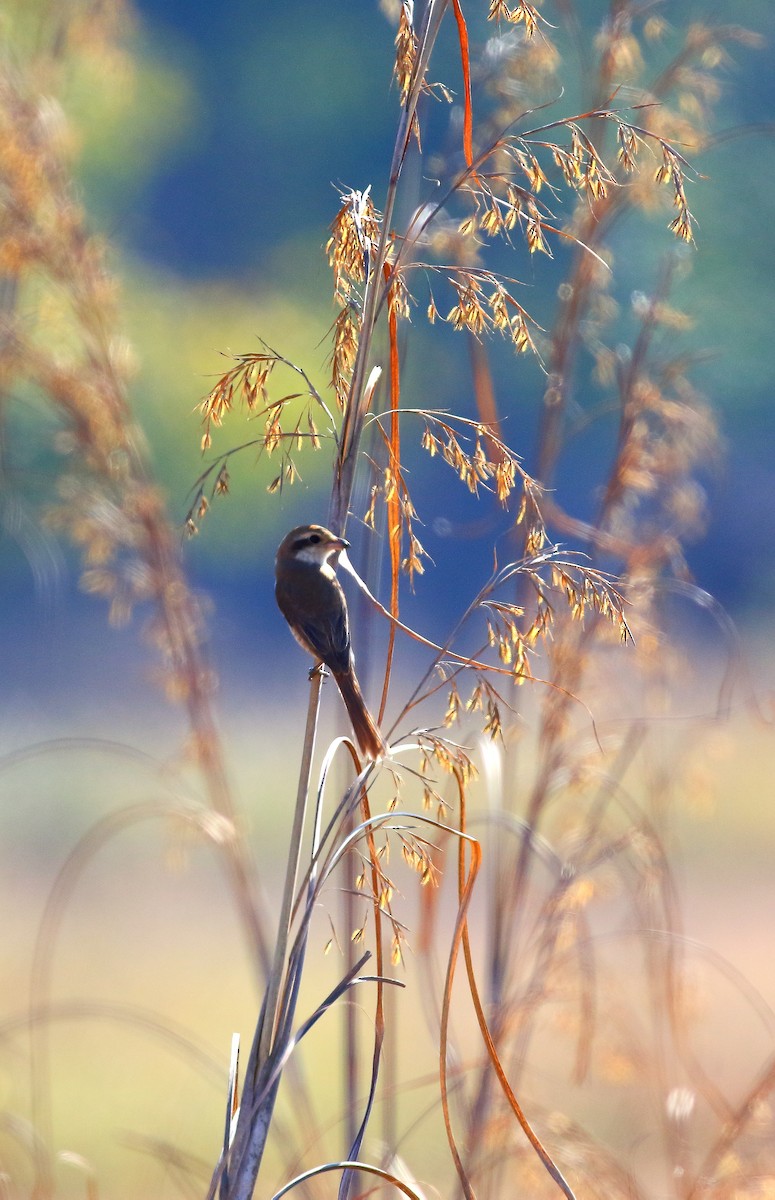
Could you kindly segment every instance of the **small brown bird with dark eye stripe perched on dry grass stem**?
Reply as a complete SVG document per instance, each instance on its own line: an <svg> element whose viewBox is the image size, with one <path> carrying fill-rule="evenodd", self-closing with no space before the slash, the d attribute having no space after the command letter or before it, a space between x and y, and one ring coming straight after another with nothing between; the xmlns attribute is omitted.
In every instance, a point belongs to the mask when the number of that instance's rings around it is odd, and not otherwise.
<svg viewBox="0 0 775 1200"><path fill-rule="evenodd" d="M296 526L277 548L275 596L301 648L334 676L361 754L377 761L388 746L355 674L347 600L336 577L340 554L348 547L349 541L324 526Z"/></svg>

